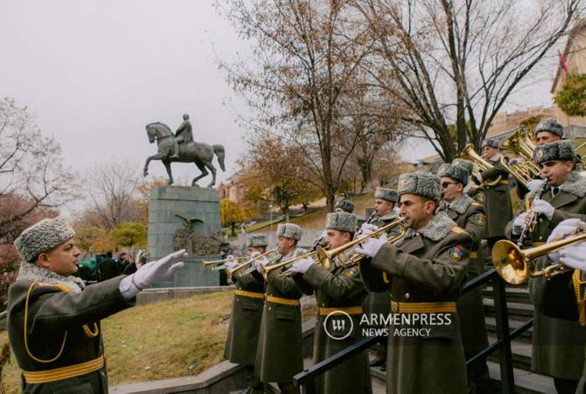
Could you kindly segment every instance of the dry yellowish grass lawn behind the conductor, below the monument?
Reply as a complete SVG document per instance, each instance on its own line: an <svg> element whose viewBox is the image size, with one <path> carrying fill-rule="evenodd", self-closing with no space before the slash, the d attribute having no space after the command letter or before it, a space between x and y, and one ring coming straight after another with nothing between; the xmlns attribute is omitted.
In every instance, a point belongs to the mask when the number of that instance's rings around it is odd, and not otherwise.
<svg viewBox="0 0 586 394"><path fill-rule="evenodd" d="M233 293L221 291L130 308L102 321L110 386L197 375L223 360ZM0 332L6 341L8 333ZM192 371L189 365L196 364ZM6 365L7 393L18 393L15 359Z"/></svg>

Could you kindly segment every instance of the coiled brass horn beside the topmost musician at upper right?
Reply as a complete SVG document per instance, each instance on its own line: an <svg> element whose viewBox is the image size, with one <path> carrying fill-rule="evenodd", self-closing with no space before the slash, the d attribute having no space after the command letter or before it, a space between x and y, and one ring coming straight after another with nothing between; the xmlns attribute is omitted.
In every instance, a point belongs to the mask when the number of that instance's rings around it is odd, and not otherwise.
<svg viewBox="0 0 586 394"><path fill-rule="evenodd" d="M533 134L525 127L516 128L500 144L502 150L509 151L500 158L500 164L523 186L533 179L540 178L541 169L533 161Z"/></svg>

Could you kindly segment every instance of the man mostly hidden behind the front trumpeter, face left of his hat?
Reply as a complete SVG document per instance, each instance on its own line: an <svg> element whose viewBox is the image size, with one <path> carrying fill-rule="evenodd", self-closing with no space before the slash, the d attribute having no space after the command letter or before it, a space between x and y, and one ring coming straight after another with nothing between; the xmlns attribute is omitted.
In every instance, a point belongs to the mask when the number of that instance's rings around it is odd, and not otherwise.
<svg viewBox="0 0 586 394"><path fill-rule="evenodd" d="M374 212L376 219L370 223L362 225L362 230L370 229L376 230L379 227L388 225L393 220L398 218L398 209L395 209L395 204L398 201L398 193L394 189L376 188L374 191ZM370 226L369 226L370 224ZM396 232L396 229L391 230ZM364 313L367 315L387 316L391 312L389 292L377 293L369 291L364 300ZM378 324L372 325L372 328L384 328ZM381 371L387 369L387 341L388 337L380 338L380 348L376 352L376 359L374 359L370 366L380 366Z"/></svg>

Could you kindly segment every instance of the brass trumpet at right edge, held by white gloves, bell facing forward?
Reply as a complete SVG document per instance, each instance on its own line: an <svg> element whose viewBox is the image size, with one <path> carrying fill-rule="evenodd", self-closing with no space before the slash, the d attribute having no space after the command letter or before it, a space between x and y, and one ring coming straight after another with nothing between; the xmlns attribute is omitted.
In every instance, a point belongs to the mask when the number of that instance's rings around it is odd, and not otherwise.
<svg viewBox="0 0 586 394"><path fill-rule="evenodd" d="M561 263L555 263L543 270L536 270L535 260L546 256L554 250L561 249L575 243L586 240L586 232L582 231L565 239L546 243L541 246L521 249L515 243L500 240L492 248L492 261L495 269L507 283L520 284L528 278L551 278L573 270Z"/></svg>

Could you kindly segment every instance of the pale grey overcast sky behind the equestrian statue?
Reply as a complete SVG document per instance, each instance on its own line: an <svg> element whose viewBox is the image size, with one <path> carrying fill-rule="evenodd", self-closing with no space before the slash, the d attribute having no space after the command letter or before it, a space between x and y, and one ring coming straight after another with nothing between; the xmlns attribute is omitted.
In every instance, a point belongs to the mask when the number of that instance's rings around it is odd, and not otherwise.
<svg viewBox="0 0 586 394"><path fill-rule="evenodd" d="M197 141L226 147L227 171L219 171L219 181L233 172L243 146L234 109L246 109L223 105L233 93L214 51L230 60L246 44L212 1L0 0L0 48L0 94L28 106L80 174L111 157L141 168L155 152L145 125L162 121L175 130L183 113L190 114ZM507 109L550 105L550 79ZM406 156L432 153L419 145ZM199 174L189 164L173 166L176 179ZM165 174L159 162L150 172Z"/></svg>

